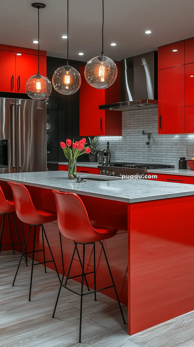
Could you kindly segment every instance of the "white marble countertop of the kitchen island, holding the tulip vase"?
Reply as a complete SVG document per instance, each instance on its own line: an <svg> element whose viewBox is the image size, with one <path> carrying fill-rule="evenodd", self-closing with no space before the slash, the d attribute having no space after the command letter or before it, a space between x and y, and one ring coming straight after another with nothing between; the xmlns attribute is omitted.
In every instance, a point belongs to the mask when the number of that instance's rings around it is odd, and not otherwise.
<svg viewBox="0 0 194 347"><path fill-rule="evenodd" d="M84 174L82 176L99 179L99 175ZM11 180L35 187L58 189L63 192L74 192L80 195L95 196L127 203L194 195L194 185L191 184L141 179L114 180L114 178L110 181L87 180L86 182L77 183L77 180L67 179L66 171L1 174L0 180Z"/></svg>

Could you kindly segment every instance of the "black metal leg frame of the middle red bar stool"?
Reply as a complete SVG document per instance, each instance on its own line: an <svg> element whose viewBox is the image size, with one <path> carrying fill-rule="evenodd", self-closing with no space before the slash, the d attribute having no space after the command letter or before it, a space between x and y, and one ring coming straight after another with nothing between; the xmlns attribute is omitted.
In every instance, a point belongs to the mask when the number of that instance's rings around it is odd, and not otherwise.
<svg viewBox="0 0 194 347"><path fill-rule="evenodd" d="M38 249L37 251L35 251L36 227L38 227L38 226L40 226L40 227L42 228L42 243L43 243L43 249ZM56 270L57 276L58 276L59 281L60 281L60 283L61 283L61 278L60 278L60 276L59 276L59 272L58 272L58 269L57 269L57 267L56 267L56 263L55 263L55 261L54 261L54 257L53 257L53 254L52 254L52 251L51 251L51 247L50 247L50 244L49 244L49 242L48 242L48 239L47 239L46 232L45 232L45 230L44 230L43 224L38 224L38 225L32 225L32 224L30 224L29 231L28 231L28 235L27 235L26 242L25 242L25 245L24 245L24 249L23 249L23 252L21 253L21 257L20 257L19 264L18 264L18 267L17 267L17 270L16 270L16 274L15 274L15 277L14 277L14 281L13 281L13 283L12 283L12 287L14 287L14 283L15 283L15 280L16 280L16 277L17 277L17 273L18 273L18 270L19 270L19 266L20 266L20 264L21 264L21 260L22 260L22 257L23 257L23 255L24 255L25 249L26 249L26 245L27 245L27 241L28 241L28 237L29 237L29 234L30 234L30 229L31 229L31 227L34 227L33 251L32 251L32 252L26 252L26 254L32 253L32 268L31 268L30 289L29 289L29 299L28 299L28 301L31 301L33 268L34 268L35 265L44 264L44 270L45 270L45 273L46 273L46 263L53 262L53 263L54 263L54 266L55 266L55 270ZM63 250L62 250L62 242L61 242L61 233L60 233L60 232L59 232L59 235L60 235L60 246L61 246L62 266L63 266L63 272L64 272ZM51 257L52 257L52 260L48 260L48 261L45 261L44 236L45 236L45 239L46 239L46 242L47 242L49 251L50 251L50 253L51 253ZM35 252L42 252L42 251L43 251L43 258L44 258L44 261L41 262L41 263L36 263L36 264L34 264L34 253L35 253ZM81 258L80 258L80 255L79 255L78 250L77 250L77 253L78 253L79 261L80 261L81 268L82 268ZM85 277L85 274L83 274L83 276ZM86 280L86 277L85 277L85 280ZM89 289L89 286L88 286L87 280L86 280L86 285L87 285L87 287L88 287L88 290L90 290L90 289Z"/></svg>

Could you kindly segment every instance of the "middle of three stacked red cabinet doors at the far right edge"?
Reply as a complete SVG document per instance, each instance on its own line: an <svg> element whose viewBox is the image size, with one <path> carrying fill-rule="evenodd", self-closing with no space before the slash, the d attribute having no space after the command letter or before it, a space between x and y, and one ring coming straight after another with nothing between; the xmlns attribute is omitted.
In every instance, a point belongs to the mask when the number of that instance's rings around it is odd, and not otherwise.
<svg viewBox="0 0 194 347"><path fill-rule="evenodd" d="M185 106L194 106L194 63L185 65Z"/></svg>

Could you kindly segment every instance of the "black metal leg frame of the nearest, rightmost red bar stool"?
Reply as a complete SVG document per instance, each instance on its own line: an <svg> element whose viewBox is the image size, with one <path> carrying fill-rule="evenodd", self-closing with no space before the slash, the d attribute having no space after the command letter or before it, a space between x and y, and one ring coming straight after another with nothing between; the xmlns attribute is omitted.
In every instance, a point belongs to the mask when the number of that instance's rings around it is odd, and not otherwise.
<svg viewBox="0 0 194 347"><path fill-rule="evenodd" d="M62 279L61 279L61 284L60 284L60 287L59 287L59 292L58 292L58 296L56 298L56 303L55 303L55 307L54 307L54 311L53 311L53 315L52 315L52 318L54 318L55 311L56 311L56 306L58 304L58 300L59 300L59 296L60 296L60 292L61 292L61 287L64 287L64 288L72 291L72 293L75 293L75 294L79 295L81 297L81 301L80 301L80 323L79 323L79 342L81 342L82 303L83 303L83 296L84 295L94 293L94 300L96 301L96 292L97 291L101 291L101 290L108 289L108 288L114 288L115 294L116 294L116 298L117 298L117 302L118 302L118 307L120 309L121 316L122 316L122 319L123 319L123 323L126 324L125 318L124 318L124 315L123 315L123 311L122 311L122 308L121 308L120 300L118 298L118 294L117 294L117 291L116 291L115 283L114 283L114 280L113 280L112 272L111 272L111 269L110 269L110 266L109 266L109 263L108 263L108 259L107 259L107 256L106 256L106 252L105 252L105 249L104 249L104 245L103 245L102 241L98 241L98 242L102 246L102 249L103 249L103 252L104 252L106 264L108 266L108 271L109 271L109 274L111 276L111 280L112 280L112 283L113 283L112 286L108 286L108 287L101 288L101 289L96 289L96 253L95 253L95 242L94 243L74 242L75 247L74 247L73 255L72 255L72 258L71 258L70 265L69 265L69 270L68 270L68 274L67 274L67 277L66 277L66 280L65 280L65 284L63 285L64 275L65 275L64 270L63 270L63 276L62 276ZM94 250L94 271L84 273L85 246L86 245L92 245L92 244L93 244L93 250ZM77 245L83 245L82 274L78 275L78 276L69 277L69 273L70 273L71 266L72 266L72 263L73 263L74 255L76 253ZM63 261L63 258L62 258L62 261ZM88 291L87 293L83 293L83 279L84 279L84 276L87 275L87 274L90 274L90 273L94 273L94 290ZM67 287L67 281L68 281L68 279L72 279L72 278L76 278L76 277L80 277L80 276L81 276L81 293L77 293L77 291L74 291L74 290L72 290L72 289Z"/></svg>

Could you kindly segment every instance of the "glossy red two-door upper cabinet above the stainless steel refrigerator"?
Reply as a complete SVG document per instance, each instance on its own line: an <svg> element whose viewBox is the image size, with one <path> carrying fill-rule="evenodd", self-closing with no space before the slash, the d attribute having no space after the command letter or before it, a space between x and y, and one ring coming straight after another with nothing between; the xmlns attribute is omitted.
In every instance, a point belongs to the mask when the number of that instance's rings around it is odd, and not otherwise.
<svg viewBox="0 0 194 347"><path fill-rule="evenodd" d="M0 44L0 92L25 93L27 79L37 71L37 50ZM46 76L45 51L40 51L39 72Z"/></svg>

